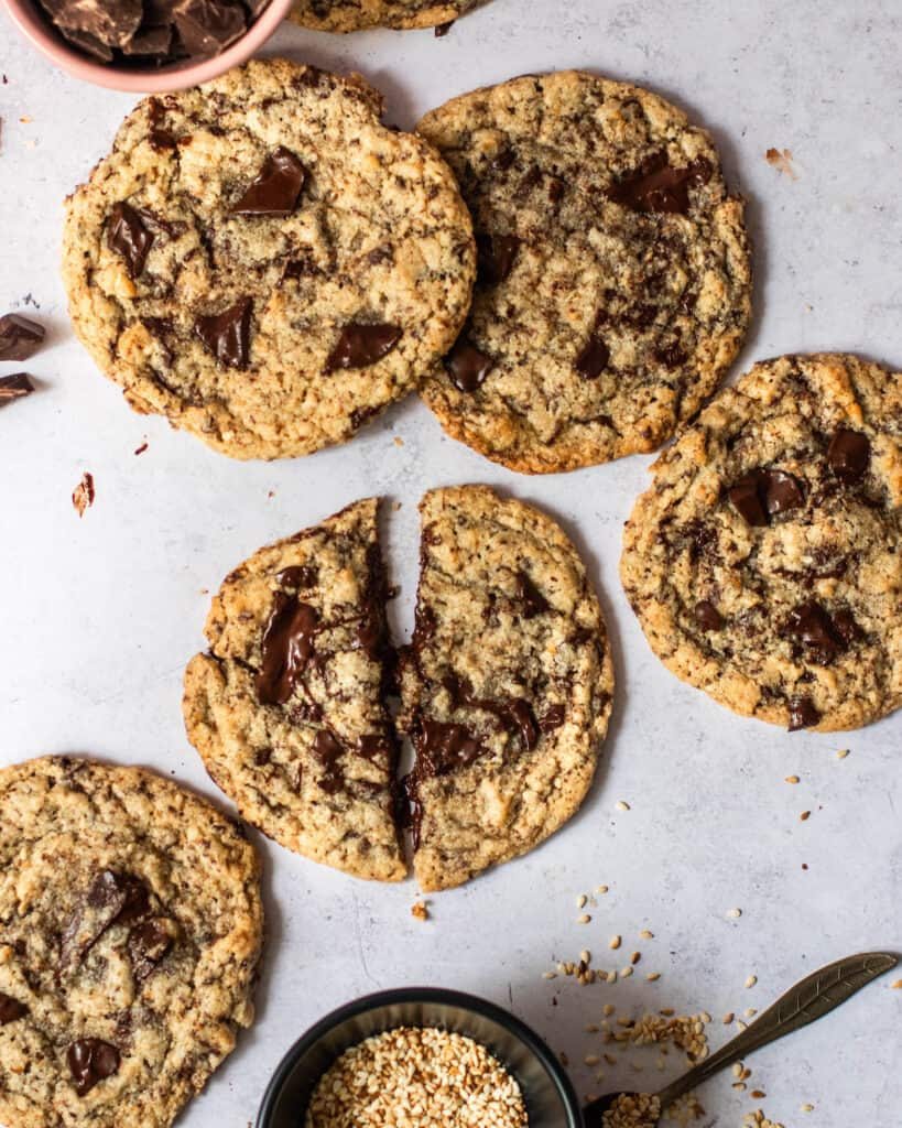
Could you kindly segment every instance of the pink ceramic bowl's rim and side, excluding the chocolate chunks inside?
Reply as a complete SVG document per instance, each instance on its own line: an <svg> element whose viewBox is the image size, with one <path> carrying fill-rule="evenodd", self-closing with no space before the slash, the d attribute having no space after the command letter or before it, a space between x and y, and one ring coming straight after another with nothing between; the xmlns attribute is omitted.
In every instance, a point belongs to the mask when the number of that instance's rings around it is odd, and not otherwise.
<svg viewBox="0 0 902 1128"><path fill-rule="evenodd" d="M232 67L247 62L288 16L294 0L269 0L269 7L247 32L212 59L184 59L170 67L141 70L99 63L77 51L56 33L36 0L3 0L12 21L42 54L86 82L132 94L166 94L207 82Z"/></svg>

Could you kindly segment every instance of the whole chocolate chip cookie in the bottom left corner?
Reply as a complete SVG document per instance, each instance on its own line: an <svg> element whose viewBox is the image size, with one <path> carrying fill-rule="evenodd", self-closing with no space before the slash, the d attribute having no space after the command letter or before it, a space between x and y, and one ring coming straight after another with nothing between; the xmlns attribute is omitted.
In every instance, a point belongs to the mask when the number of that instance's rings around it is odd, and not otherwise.
<svg viewBox="0 0 902 1128"><path fill-rule="evenodd" d="M139 768L0 770L0 1122L165 1128L254 1016L241 829Z"/></svg>

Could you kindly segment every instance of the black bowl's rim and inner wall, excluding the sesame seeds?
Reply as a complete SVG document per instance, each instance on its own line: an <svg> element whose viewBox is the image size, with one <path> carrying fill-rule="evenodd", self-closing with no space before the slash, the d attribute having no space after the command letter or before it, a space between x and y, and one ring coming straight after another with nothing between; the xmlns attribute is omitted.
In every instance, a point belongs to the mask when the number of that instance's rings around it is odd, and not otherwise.
<svg viewBox="0 0 902 1128"><path fill-rule="evenodd" d="M257 1128L303 1128L310 1096L333 1061L364 1038L397 1026L439 1026L472 1038L516 1078L530 1128L583 1128L569 1078L525 1023L474 995L431 987L366 995L321 1019L282 1059L263 1098Z"/></svg>

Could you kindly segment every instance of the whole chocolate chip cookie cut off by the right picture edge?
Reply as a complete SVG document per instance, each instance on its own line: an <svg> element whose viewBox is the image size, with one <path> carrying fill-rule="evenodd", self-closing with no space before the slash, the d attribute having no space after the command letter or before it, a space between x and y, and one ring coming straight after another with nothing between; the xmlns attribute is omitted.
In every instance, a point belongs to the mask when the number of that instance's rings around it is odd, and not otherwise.
<svg viewBox="0 0 902 1128"><path fill-rule="evenodd" d="M781 356L658 458L621 576L654 652L745 716L856 729L902 704L902 376Z"/></svg>

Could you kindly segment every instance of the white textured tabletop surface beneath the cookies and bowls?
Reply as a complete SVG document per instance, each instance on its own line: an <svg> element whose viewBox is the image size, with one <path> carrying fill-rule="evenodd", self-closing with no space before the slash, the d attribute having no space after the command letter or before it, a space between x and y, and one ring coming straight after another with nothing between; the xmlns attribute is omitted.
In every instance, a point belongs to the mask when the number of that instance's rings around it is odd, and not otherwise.
<svg viewBox="0 0 902 1128"><path fill-rule="evenodd" d="M896 0L493 0L443 39L286 27L273 50L361 70L405 126L451 95L525 71L578 65L646 82L714 131L731 182L750 199L757 316L737 371L815 347L899 368L900 35ZM368 887L259 841L269 927L259 1021L184 1128L244 1128L289 1043L378 988L440 984L511 1005L567 1051L585 1093L645 1079L624 1067L599 1085L581 1065L601 1051L582 1031L608 1001L620 1013L707 1008L719 1045L725 1011L763 1008L839 955L902 949L902 716L848 735L787 735L733 717L664 671L617 579L620 529L647 459L518 477L445 440L409 400L343 449L241 465L133 415L72 340L56 273L62 199L107 150L132 99L54 72L2 17L0 71L0 311L32 294L52 331L27 365L41 394L0 416L0 764L87 751L171 772L215 799L179 712L182 669L202 643L201 589L259 545L377 491L404 503L391 548L405 628L421 493L484 481L558 514L602 591L617 649L616 719L582 813L530 857L435 898L430 923L409 915L410 883ZM792 149L797 180L766 162L771 146ZM79 521L70 494L86 469L97 501ZM851 754L839 761L843 747ZM782 782L793 773L798 786ZM628 812L616 810L619 799ZM611 892L578 926L577 893L602 882ZM725 918L733 906L739 920ZM639 942L646 927L655 940ZM625 937L624 959L605 959L612 933ZM611 968L634 949L643 960L612 987L541 979L583 946ZM648 971L661 980L645 982ZM746 990L750 972L759 981ZM732 1077L711 1083L702 1123L739 1126L763 1104L787 1128L897 1128L893 978L753 1059L750 1089L767 1100L735 1093ZM816 1108L806 1116L808 1101Z"/></svg>

